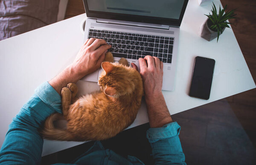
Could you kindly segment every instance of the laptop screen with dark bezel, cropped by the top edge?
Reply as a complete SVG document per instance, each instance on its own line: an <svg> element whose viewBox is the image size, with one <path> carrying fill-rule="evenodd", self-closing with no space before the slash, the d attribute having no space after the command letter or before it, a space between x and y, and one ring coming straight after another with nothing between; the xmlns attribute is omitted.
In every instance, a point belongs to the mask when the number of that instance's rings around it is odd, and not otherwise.
<svg viewBox="0 0 256 165"><path fill-rule="evenodd" d="M84 0L87 17L179 26L188 0Z"/></svg>

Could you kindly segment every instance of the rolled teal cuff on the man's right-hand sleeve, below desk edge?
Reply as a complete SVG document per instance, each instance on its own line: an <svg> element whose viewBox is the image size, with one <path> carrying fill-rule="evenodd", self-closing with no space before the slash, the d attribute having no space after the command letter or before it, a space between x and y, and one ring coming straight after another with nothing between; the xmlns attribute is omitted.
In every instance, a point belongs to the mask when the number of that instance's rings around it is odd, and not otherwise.
<svg viewBox="0 0 256 165"><path fill-rule="evenodd" d="M158 140L169 139L180 134L180 126L177 122L172 122L160 128L150 128L147 131L147 138L150 143Z"/></svg>

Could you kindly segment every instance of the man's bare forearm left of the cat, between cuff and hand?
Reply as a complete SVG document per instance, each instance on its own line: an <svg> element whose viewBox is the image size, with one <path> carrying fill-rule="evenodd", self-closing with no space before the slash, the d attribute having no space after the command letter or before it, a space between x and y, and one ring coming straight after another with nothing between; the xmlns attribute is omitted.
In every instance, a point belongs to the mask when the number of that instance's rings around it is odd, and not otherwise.
<svg viewBox="0 0 256 165"><path fill-rule="evenodd" d="M57 76L49 81L49 84L61 95L61 89L66 87L68 83L76 83L82 76L75 74L75 68L68 66Z"/></svg>

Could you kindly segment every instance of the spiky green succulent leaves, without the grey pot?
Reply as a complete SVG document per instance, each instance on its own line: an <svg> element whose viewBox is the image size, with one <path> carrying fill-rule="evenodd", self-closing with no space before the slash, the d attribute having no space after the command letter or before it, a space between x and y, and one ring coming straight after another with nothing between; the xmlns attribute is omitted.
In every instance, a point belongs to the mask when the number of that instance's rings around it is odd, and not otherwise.
<svg viewBox="0 0 256 165"><path fill-rule="evenodd" d="M210 21L209 20L207 21L209 29L211 29L212 31L218 32L218 38L220 33L222 34L223 28L225 27L230 28L228 24L232 24L232 23L227 22L227 20L236 18L234 17L236 16L236 14L234 14L234 11L236 9L228 11L227 13L224 14L224 11L226 10L226 8L227 8L227 5L221 10L221 6L220 6L219 12L217 12L216 6L213 3L212 10L211 10L212 14L210 13L209 15L204 14L210 20ZM217 38L217 42L218 42L218 38Z"/></svg>

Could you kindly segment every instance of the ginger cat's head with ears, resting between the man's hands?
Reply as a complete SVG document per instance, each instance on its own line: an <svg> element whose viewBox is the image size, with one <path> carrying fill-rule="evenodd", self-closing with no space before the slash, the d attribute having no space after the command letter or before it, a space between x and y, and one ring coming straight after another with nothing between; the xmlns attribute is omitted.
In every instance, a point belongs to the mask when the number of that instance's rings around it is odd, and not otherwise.
<svg viewBox="0 0 256 165"><path fill-rule="evenodd" d="M139 74L135 69L110 62L102 62L102 69L98 84L106 95L117 98L134 92L134 74Z"/></svg>

